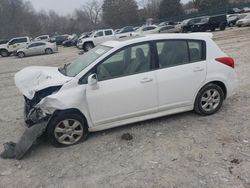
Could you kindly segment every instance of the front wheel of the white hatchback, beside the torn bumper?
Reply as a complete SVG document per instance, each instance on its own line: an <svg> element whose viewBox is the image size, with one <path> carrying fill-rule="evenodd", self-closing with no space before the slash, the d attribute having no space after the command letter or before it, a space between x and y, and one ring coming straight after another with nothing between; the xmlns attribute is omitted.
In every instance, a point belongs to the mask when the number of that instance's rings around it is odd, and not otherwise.
<svg viewBox="0 0 250 188"><path fill-rule="evenodd" d="M87 136L87 123L81 115L76 113L60 113L51 119L47 127L48 140L55 147L78 144L86 140Z"/></svg>

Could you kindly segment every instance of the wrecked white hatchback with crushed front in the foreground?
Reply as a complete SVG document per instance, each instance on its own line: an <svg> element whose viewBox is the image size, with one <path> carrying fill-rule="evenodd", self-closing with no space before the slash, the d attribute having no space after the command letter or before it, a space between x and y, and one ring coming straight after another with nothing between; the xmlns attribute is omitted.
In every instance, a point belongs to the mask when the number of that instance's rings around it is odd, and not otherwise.
<svg viewBox="0 0 250 188"><path fill-rule="evenodd" d="M62 68L15 76L28 126L44 122L55 146L100 131L194 110L216 113L237 89L234 60L208 33L109 41Z"/></svg>

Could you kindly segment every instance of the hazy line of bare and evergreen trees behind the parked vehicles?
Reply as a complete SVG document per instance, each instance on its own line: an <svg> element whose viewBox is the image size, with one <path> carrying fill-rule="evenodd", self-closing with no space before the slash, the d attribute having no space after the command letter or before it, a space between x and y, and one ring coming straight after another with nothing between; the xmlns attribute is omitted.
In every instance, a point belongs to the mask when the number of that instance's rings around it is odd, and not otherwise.
<svg viewBox="0 0 250 188"><path fill-rule="evenodd" d="M225 5L229 1L191 0L188 4L189 7L204 10ZM25 35L80 34L101 27L136 25L147 18L183 15L184 7L180 0L91 0L71 15L62 16L54 11L35 11L29 1L0 0L0 39Z"/></svg>

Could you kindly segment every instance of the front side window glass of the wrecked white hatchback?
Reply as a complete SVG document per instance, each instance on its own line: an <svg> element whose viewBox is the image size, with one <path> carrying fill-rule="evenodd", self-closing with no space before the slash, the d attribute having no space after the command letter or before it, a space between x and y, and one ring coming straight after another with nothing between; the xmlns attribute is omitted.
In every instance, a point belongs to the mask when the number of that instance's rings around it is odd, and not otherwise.
<svg viewBox="0 0 250 188"><path fill-rule="evenodd" d="M150 45L127 47L96 67L99 81L138 74L150 70Z"/></svg>

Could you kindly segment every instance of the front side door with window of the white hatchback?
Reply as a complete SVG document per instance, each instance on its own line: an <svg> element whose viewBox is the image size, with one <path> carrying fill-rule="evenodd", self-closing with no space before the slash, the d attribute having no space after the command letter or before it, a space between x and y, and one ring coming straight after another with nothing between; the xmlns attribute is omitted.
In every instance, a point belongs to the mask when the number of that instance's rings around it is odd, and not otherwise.
<svg viewBox="0 0 250 188"><path fill-rule="evenodd" d="M139 117L157 111L157 83L151 71L150 44L127 47L95 67L98 87L87 87L95 125Z"/></svg>

